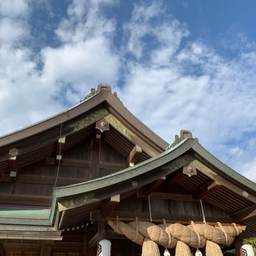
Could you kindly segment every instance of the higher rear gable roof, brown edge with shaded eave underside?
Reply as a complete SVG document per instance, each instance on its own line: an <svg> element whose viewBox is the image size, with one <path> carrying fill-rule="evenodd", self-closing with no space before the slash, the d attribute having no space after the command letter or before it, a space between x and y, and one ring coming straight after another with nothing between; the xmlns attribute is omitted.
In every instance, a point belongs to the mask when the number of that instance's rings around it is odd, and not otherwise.
<svg viewBox="0 0 256 256"><path fill-rule="evenodd" d="M24 130L0 138L0 174L10 173L10 158L17 157L19 167L56 155L60 134L65 137L65 150L95 133L95 123L106 118L110 131L103 139L127 157L139 144L142 154L137 162L158 155L167 143L134 117L109 90L76 107ZM132 125L133 123L133 125Z"/></svg>

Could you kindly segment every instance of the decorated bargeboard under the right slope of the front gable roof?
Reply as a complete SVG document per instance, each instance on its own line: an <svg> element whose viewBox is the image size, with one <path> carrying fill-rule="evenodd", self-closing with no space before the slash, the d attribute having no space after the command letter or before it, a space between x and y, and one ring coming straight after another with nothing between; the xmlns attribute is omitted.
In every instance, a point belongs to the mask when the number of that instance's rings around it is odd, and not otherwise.
<svg viewBox="0 0 256 256"><path fill-rule="evenodd" d="M194 162L192 162L191 165L196 167L198 171L201 171L201 173L203 173L210 179L215 180L219 185L223 185L230 191L234 192L234 194L238 194L239 196L242 196L244 199L252 201L253 203L256 203L256 196L254 196L248 191L244 191L244 189L241 189L241 187L239 187L239 184L235 185L229 180L226 180L222 176L218 175L216 172L209 169L209 167L201 164L201 162L199 162L198 160L194 160Z"/></svg>

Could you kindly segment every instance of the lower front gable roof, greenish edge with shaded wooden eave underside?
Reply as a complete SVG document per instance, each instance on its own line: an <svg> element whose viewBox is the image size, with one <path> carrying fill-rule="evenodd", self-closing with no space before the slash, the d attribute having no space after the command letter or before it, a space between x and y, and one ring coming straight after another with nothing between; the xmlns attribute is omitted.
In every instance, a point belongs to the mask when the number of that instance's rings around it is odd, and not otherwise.
<svg viewBox="0 0 256 256"><path fill-rule="evenodd" d="M191 178L181 175L180 168L187 164L194 165L198 169L198 175ZM249 215L256 205L255 183L225 166L194 139L186 139L156 157L113 175L54 189L49 219L35 220L34 223L53 223L57 203L61 212L60 228L82 223L89 219L92 210L101 209L108 198L117 194L121 195L121 199L126 198L141 189L146 193L150 187L156 186L155 182L162 177L167 177L162 182L172 185L174 182L187 191L188 195L180 195L180 200L202 199L225 210L235 221L249 223L248 233L244 233L246 237L254 234L252 226L256 226L255 214ZM204 187L205 184L207 187ZM201 191L198 191L198 187L202 188ZM164 196L168 198L168 195ZM169 197L171 198L171 194ZM243 209L248 209L249 215L243 212ZM15 219L7 218L4 221L15 223ZM3 223L3 219L1 222Z"/></svg>

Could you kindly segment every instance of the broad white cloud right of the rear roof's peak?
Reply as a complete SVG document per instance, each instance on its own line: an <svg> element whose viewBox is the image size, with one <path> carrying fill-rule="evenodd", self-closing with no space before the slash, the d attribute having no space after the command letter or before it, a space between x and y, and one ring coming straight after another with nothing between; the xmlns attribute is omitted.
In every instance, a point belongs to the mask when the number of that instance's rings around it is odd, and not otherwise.
<svg viewBox="0 0 256 256"><path fill-rule="evenodd" d="M200 41L186 40L181 47L189 34L185 27L175 19L161 18L162 23L154 21L160 33L152 32L153 23L144 17L151 6L135 6L136 22L132 19L124 26L130 31L127 47L137 60L127 65L121 98L139 119L169 142L179 130L189 129L205 148L241 173L248 171L241 163L249 161L252 168L246 175L250 177L256 151L256 143L250 149L246 146L253 139L248 128L256 130L253 44L251 51L246 44L241 54L231 59ZM135 15L136 10L144 12ZM162 10L155 10L150 19L159 19ZM159 42L156 48L144 46L145 35L155 37ZM147 55L151 56L149 61L138 61ZM239 148L234 144L240 144Z"/></svg>

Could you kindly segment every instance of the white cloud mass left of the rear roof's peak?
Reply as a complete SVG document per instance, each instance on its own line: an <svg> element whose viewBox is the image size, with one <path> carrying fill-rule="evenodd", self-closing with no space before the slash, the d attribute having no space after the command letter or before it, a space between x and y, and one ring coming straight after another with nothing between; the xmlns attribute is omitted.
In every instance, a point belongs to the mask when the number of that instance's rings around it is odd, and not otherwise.
<svg viewBox="0 0 256 256"><path fill-rule="evenodd" d="M60 38L63 36L62 44L44 47L35 58L42 64L41 70L32 58L34 53L22 44L22 40L31 37L30 28L25 25L33 12L28 8L33 4L20 1L13 13L7 1L1 4L6 17L0 20L0 31L6 33L1 33L0 38L5 42L0 46L0 115L5 124L0 127L0 134L78 103L98 83L116 83L119 57L111 42L115 24L100 10L108 4L106 1L74 1L69 6L69 16L56 30Z"/></svg>

